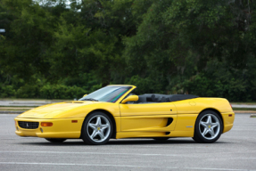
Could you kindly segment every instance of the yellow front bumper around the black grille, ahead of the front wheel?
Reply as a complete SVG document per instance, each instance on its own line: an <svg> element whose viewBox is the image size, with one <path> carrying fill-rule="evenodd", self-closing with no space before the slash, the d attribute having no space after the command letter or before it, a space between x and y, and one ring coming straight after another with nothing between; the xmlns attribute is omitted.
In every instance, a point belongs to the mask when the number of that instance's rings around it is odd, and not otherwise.
<svg viewBox="0 0 256 171"><path fill-rule="evenodd" d="M79 138L84 118L14 118L16 131L20 136L34 136L41 138ZM74 122L74 120L77 120ZM19 126L18 121L38 122L35 129L27 129ZM73 121L73 122L72 122ZM53 126L41 126L41 122L52 122Z"/></svg>

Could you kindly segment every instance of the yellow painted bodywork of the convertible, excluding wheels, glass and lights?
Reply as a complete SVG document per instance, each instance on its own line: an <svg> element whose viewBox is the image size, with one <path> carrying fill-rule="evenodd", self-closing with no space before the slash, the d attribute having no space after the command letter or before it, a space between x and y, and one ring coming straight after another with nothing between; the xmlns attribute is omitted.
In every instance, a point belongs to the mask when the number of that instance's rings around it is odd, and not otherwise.
<svg viewBox="0 0 256 171"><path fill-rule="evenodd" d="M196 98L178 102L125 104L121 102L136 88L123 94L117 102L59 102L26 111L16 121L39 122L37 129L18 126L16 134L43 138L79 138L84 119L95 110L110 113L116 124L116 138L130 137L193 137L194 124L202 110L218 110L223 118L223 133L229 131L235 114L226 99ZM128 101L137 99L130 95ZM127 101L127 102L128 102ZM231 117L229 115L232 114ZM173 121L168 125L168 119ZM76 119L78 123L72 123ZM53 122L53 126L40 126L41 122ZM43 133L40 128L43 129ZM98 128L99 129L99 128Z"/></svg>

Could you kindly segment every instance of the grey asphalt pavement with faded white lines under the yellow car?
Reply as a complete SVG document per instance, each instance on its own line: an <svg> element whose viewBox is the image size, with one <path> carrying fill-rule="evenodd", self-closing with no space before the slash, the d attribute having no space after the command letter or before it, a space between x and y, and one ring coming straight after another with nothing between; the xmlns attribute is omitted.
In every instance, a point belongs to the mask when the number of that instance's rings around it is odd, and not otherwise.
<svg viewBox="0 0 256 171"><path fill-rule="evenodd" d="M256 171L256 118L236 114L235 126L211 144L191 138L166 142L111 140L89 146L81 140L54 144L14 134L13 118L0 114L0 171L5 170L227 170Z"/></svg>

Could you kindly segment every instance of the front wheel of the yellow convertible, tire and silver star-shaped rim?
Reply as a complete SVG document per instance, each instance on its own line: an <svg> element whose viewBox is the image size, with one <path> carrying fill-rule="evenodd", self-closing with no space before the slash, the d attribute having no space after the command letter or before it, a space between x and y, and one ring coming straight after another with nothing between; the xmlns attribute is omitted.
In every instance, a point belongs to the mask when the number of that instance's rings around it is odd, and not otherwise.
<svg viewBox="0 0 256 171"><path fill-rule="evenodd" d="M81 138L87 144L102 145L110 140L112 132L111 118L103 112L96 111L85 119Z"/></svg>

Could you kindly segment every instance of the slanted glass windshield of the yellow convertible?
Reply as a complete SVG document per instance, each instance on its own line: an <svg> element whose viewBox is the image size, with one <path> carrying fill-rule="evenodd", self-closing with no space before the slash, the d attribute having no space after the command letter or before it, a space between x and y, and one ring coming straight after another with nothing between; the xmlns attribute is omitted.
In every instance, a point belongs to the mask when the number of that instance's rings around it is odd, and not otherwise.
<svg viewBox="0 0 256 171"><path fill-rule="evenodd" d="M105 86L79 99L79 101L117 102L120 96L127 93L130 88L131 86Z"/></svg>

